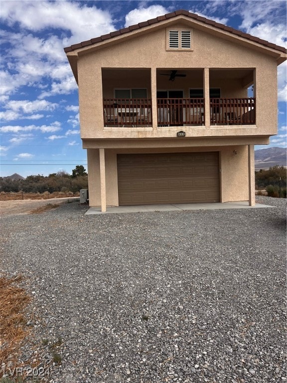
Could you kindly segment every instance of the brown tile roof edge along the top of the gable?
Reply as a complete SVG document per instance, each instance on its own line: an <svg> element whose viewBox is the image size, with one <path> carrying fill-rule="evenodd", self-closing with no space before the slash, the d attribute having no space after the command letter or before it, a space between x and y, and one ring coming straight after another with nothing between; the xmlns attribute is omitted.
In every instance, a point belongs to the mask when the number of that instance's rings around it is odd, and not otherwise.
<svg viewBox="0 0 287 383"><path fill-rule="evenodd" d="M287 52L286 48L284 48L282 46L273 44L273 43L271 43L271 42L269 42L267 40L263 40L263 39L261 39L259 37L252 36L251 34L244 33L241 30L237 30L237 29L231 28L230 26L221 24L219 22L216 22L216 21L213 21L213 20L209 20L206 17L202 17L202 16L199 16L198 14L188 12L187 10L184 10L184 9L176 10L176 11L171 12L171 13L166 13L163 16L158 16L158 17L152 18L152 19L147 20L147 21L139 22L139 24L131 25L131 26L127 27L127 28L116 30L116 31L108 33L108 34L104 34L104 35L102 35L100 37L92 38L91 40L82 41L82 42L80 42L78 44L73 44L71 46L68 46L68 47L64 48L64 51L66 53L68 53L68 52L71 52L73 50L80 49L80 48L83 48L83 47L88 46L88 45L93 45L93 44L96 44L98 42L101 42L101 41L104 41L104 40L108 40L108 39L113 38L115 36L120 36L120 35L129 33L129 32L132 32L132 31L134 31L136 29L140 29L140 28L143 28L145 26L149 26L151 24L155 24L155 23L160 22L160 21L168 20L168 19L170 19L172 17L176 17L176 16L181 15L181 14L184 15L184 16L190 17L192 19L195 19L195 20L198 20L198 21L202 21L202 22L204 22L204 23L206 23L208 25L212 25L212 26L214 26L214 27L216 27L218 29L225 30L225 31L233 33L233 34L235 34L237 36L246 38L246 39L248 39L250 41L257 42L258 44L262 44L262 45L264 45L264 46L266 46L268 48L273 48L273 49L279 50L279 51L284 52L284 53Z"/></svg>

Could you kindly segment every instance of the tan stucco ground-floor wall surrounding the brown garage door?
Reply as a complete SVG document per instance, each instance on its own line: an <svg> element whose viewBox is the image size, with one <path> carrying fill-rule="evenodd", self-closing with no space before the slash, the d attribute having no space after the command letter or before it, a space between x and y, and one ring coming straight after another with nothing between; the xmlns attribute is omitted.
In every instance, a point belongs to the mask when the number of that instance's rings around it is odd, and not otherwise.
<svg viewBox="0 0 287 383"><path fill-rule="evenodd" d="M149 148L149 149L106 149L106 203L107 206L118 206L117 154L120 153L174 153L174 152L208 152L220 153L221 201L242 201L249 199L248 187L248 147L193 147L193 148ZM235 154L234 151L237 153ZM99 150L88 149L88 162L95 167L88 168L89 204L101 206ZM95 192L92 192L95 191Z"/></svg>

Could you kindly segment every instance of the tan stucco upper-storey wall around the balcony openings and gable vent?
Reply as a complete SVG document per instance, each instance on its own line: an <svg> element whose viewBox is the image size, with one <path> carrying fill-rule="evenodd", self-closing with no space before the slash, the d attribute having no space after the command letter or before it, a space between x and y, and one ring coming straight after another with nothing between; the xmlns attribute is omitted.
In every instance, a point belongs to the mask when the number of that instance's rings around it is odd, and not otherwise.
<svg viewBox="0 0 287 383"><path fill-rule="evenodd" d="M178 23L174 27L186 27L185 23ZM188 24L188 25L192 25ZM252 48L238 45L234 41L218 38L194 28L193 51L166 51L165 28L152 30L144 36L123 40L120 44L109 45L95 52L90 49L87 54L79 53L78 77L79 77L79 100L80 100L80 124L82 138L121 138L121 137L168 137L173 136L177 128L170 129L143 129L137 128L126 130L117 128L103 128L103 88L102 68L197 68L202 71L202 77L198 78L194 87L203 85L203 68L210 68L210 87L222 88L222 97L246 97L246 87L242 87L239 80L229 79L225 82L213 79L214 68L255 68L256 81L256 126L241 126L234 130L230 127L216 127L214 129L199 129L189 127L189 136L237 136L237 135L270 135L277 132L277 62L275 58ZM158 70L160 72L160 70ZM132 71L131 71L132 73ZM148 88L155 94L157 89L184 89L185 95L189 86L186 78L177 78L176 81L165 81L163 76L157 76L156 82L150 84L147 76L147 85L144 86L144 78L139 80L139 87ZM129 77L119 80L118 87L126 87ZM134 81L134 80L133 80ZM157 83L157 84L156 84ZM162 84L162 85L161 85ZM198 85L197 85L198 84ZM164 86L165 85L165 86ZM192 86L192 87L193 87ZM107 83L105 96L113 97L113 86ZM155 102L155 100L153 100ZM139 132L139 130L141 132Z"/></svg>

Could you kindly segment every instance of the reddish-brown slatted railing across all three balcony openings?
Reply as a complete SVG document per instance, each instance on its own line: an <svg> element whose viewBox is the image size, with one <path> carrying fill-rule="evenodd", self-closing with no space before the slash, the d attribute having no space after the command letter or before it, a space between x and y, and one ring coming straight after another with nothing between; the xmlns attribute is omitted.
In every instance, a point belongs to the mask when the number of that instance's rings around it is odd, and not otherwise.
<svg viewBox="0 0 287 383"><path fill-rule="evenodd" d="M157 98L157 126L205 125L204 98ZM255 124L255 98L211 98L211 125ZM106 127L151 127L151 99L103 100Z"/></svg>

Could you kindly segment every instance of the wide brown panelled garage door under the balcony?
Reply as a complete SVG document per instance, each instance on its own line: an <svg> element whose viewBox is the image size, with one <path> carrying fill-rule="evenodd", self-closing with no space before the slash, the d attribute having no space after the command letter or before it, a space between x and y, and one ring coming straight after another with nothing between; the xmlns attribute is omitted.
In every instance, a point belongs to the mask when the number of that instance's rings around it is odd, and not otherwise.
<svg viewBox="0 0 287 383"><path fill-rule="evenodd" d="M218 152L119 154L120 205L218 202Z"/></svg>

